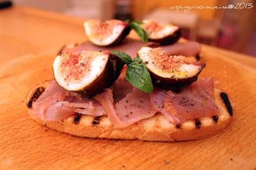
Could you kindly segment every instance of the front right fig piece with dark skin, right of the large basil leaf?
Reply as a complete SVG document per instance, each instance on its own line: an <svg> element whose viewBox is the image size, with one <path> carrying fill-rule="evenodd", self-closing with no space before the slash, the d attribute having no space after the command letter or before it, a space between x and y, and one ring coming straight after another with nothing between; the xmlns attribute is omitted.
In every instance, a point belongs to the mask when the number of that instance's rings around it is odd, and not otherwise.
<svg viewBox="0 0 256 170"><path fill-rule="evenodd" d="M142 47L137 55L146 64L152 83L164 89L175 89L196 81L204 63L184 56L168 56L162 48Z"/></svg>

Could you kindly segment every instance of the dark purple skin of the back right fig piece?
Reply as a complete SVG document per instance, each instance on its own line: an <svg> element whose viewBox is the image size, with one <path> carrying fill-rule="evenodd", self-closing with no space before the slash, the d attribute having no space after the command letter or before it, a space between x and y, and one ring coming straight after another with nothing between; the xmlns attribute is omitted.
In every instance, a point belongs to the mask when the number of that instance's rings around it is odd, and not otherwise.
<svg viewBox="0 0 256 170"><path fill-rule="evenodd" d="M164 38L160 39L150 39L149 41L160 43L161 46L166 46L169 44L174 44L177 42L181 37L181 31L180 28L177 29L173 34L170 34L169 36L166 36Z"/></svg>

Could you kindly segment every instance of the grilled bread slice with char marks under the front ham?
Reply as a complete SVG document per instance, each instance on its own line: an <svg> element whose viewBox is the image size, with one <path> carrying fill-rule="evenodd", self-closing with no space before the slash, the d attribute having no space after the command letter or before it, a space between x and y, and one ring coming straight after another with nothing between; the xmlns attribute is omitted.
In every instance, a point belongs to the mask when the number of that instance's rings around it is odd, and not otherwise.
<svg viewBox="0 0 256 170"><path fill-rule="evenodd" d="M42 92L47 85L48 82L43 82L31 89L26 100L28 109L30 109L29 106L32 106L31 101L35 101L35 96L38 96L38 89L41 89L39 92ZM109 118L105 116L93 117L78 114L56 122L45 122L31 114L29 116L43 126L80 137L168 142L190 141L212 136L228 126L232 113L228 112L220 94L219 89L214 89L215 103L221 112L219 116L190 120L176 126L161 113L156 113L155 116L142 119L126 128L115 128Z"/></svg>

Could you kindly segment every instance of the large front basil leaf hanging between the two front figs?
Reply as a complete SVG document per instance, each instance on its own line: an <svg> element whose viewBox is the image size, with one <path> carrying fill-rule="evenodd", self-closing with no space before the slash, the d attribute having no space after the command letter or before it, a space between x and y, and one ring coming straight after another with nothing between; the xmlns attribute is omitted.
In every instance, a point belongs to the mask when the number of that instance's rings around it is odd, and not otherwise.
<svg viewBox="0 0 256 170"><path fill-rule="evenodd" d="M141 91L151 93L154 90L150 73L140 58L135 58L129 64L126 79Z"/></svg>

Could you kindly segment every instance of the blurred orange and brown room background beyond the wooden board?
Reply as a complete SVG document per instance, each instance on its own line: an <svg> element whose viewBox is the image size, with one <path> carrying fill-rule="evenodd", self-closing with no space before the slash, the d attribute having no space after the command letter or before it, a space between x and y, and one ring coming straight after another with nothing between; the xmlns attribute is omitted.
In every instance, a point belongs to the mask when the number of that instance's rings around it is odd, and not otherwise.
<svg viewBox="0 0 256 170"><path fill-rule="evenodd" d="M80 18L155 19L179 26L185 38L256 57L255 0L13 0L12 3ZM232 9L200 9L200 6L230 7L230 4ZM177 11L178 7L183 9Z"/></svg>

